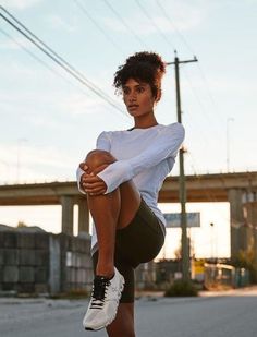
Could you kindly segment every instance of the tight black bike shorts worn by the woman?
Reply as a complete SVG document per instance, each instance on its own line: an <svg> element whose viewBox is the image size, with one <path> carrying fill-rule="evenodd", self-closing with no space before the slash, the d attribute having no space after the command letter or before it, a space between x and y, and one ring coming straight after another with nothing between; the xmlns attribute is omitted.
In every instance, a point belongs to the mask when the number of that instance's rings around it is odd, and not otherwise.
<svg viewBox="0 0 257 337"><path fill-rule="evenodd" d="M154 260L164 243L164 225L142 198L139 208L128 226L117 230L114 265L125 279L121 303L133 303L135 292L134 269ZM98 251L93 254L94 270Z"/></svg>

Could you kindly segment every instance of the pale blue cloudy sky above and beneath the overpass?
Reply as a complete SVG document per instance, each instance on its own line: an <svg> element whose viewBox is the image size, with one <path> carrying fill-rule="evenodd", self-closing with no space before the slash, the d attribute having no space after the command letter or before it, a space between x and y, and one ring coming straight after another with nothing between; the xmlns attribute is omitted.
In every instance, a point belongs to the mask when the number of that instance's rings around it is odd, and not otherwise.
<svg viewBox="0 0 257 337"><path fill-rule="evenodd" d="M174 50L180 60L198 59L180 72L186 174L257 170L256 0L0 0L0 5L120 107L0 17L0 184L75 180L77 164L102 130L133 125L112 81L118 67L143 50L167 62L174 60ZM156 117L169 124L176 121L173 65L162 91ZM172 174L178 173L176 164ZM229 205L191 207L203 217L201 229L192 229L198 255L211 254L213 218L216 241L222 240L218 254L228 255ZM60 231L58 207L48 208L45 222L40 207L10 209L0 207L0 222L14 226L23 219ZM179 231L169 230L173 248Z"/></svg>

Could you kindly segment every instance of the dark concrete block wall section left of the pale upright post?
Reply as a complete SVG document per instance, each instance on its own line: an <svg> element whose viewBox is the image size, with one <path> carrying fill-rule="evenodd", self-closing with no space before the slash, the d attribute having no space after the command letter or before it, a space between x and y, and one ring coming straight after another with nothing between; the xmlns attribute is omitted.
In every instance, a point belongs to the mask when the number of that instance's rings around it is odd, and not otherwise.
<svg viewBox="0 0 257 337"><path fill-rule="evenodd" d="M0 290L48 292L49 234L0 232Z"/></svg>

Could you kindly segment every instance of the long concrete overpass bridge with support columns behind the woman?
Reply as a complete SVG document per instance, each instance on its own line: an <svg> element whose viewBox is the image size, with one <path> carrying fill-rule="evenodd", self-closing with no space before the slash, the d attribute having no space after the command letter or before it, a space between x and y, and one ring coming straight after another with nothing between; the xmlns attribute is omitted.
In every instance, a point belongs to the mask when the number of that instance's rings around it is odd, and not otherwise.
<svg viewBox="0 0 257 337"><path fill-rule="evenodd" d="M257 245L257 172L195 174L186 177L187 202L229 202L231 255ZM179 177L168 177L159 203L179 202ZM78 233L89 228L86 196L76 182L0 185L0 206L61 205L62 232L73 234L73 208L78 205Z"/></svg>

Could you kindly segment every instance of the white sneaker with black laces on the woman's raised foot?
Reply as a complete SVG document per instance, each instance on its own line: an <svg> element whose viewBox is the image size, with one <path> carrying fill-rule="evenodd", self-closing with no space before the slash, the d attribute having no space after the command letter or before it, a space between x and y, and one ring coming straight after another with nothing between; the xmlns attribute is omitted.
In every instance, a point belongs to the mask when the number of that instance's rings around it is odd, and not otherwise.
<svg viewBox="0 0 257 337"><path fill-rule="evenodd" d="M124 277L115 267L111 279L103 276L95 277L91 299L83 320L86 330L99 330L115 318L124 282Z"/></svg>

